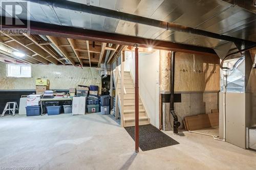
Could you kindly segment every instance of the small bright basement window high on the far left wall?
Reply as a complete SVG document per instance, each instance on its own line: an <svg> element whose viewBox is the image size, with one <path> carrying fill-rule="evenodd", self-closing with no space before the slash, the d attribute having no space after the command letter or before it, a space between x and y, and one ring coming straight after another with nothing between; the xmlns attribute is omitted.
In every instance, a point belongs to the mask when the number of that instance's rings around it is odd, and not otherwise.
<svg viewBox="0 0 256 170"><path fill-rule="evenodd" d="M31 65L7 64L7 77L31 78Z"/></svg>

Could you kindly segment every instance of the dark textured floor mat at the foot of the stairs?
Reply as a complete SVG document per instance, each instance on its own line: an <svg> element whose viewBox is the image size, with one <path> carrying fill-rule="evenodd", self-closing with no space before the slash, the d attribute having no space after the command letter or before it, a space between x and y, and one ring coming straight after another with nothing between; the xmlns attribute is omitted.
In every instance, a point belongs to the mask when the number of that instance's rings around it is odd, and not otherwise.
<svg viewBox="0 0 256 170"><path fill-rule="evenodd" d="M124 128L135 140L135 127ZM142 151L154 150L179 144L176 140L161 132L153 125L139 126L139 147Z"/></svg>

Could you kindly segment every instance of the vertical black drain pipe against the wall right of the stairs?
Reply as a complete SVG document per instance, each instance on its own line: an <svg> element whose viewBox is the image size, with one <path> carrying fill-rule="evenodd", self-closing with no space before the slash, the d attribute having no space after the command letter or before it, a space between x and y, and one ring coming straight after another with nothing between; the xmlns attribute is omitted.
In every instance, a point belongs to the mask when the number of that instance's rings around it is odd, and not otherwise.
<svg viewBox="0 0 256 170"><path fill-rule="evenodd" d="M170 64L170 70L172 70L171 72L171 76L170 76L170 81L171 81L171 85L170 85L170 114L173 115L174 117L174 134L178 134L178 128L180 126L180 122L178 120L178 116L175 113L174 110L174 76L175 76L175 52L172 52L172 59L171 59L171 64Z"/></svg>

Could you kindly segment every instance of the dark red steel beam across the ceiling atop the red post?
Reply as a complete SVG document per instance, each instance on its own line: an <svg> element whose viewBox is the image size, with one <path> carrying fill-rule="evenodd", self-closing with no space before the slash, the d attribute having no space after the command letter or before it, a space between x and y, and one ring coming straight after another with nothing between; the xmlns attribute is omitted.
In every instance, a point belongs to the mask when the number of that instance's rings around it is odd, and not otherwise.
<svg viewBox="0 0 256 170"><path fill-rule="evenodd" d="M21 19L22 20L22 19ZM22 20L25 22L25 20ZM3 28L24 28L22 25L9 26L2 25ZM100 31L86 30L68 26L53 25L50 23L42 23L30 21L30 33L39 35L48 35L55 37L65 37L73 39L82 39L90 41L98 41L105 43L115 43L120 45L134 46L138 44L139 47L149 47L166 50L176 51L201 55L216 55L212 48L200 47L195 45L187 45L181 43L174 43L169 41L152 40L134 36L126 36L114 33L105 33Z"/></svg>

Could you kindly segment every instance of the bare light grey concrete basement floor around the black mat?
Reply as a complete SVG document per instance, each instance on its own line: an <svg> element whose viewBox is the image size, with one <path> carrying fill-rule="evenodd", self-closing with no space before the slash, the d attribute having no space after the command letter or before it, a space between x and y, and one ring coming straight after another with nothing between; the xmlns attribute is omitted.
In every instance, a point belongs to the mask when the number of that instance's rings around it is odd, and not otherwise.
<svg viewBox="0 0 256 170"><path fill-rule="evenodd" d="M165 132L180 144L136 154L134 140L110 116L4 116L0 168L256 169L256 152L189 132Z"/></svg>

